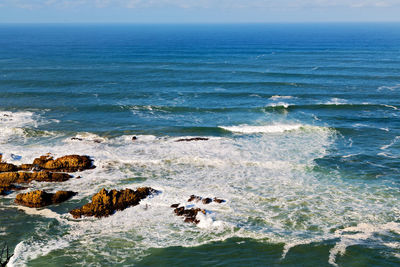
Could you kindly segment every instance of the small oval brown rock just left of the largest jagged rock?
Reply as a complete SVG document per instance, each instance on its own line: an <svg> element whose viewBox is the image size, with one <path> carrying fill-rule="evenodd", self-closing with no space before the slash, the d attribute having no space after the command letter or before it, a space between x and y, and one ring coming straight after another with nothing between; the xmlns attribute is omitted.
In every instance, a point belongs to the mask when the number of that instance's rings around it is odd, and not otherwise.
<svg viewBox="0 0 400 267"><path fill-rule="evenodd" d="M15 198L15 203L31 208L40 208L48 205L59 204L64 202L77 193L72 191L58 191L55 194L46 193L43 190L18 194Z"/></svg>

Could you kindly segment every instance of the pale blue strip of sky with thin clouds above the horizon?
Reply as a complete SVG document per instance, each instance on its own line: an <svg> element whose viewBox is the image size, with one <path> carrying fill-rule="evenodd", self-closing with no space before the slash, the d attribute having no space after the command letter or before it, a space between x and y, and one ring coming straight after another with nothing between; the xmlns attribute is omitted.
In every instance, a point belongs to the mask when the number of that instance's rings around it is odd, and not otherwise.
<svg viewBox="0 0 400 267"><path fill-rule="evenodd" d="M0 0L0 23L400 21L400 0Z"/></svg>

